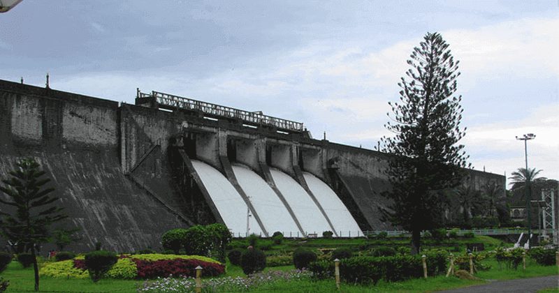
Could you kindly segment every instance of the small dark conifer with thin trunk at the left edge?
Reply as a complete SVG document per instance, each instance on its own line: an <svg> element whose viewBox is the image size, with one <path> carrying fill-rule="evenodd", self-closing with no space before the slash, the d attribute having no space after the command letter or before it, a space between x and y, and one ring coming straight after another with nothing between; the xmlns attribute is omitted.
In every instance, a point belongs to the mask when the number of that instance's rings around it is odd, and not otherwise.
<svg viewBox="0 0 559 293"><path fill-rule="evenodd" d="M36 246L48 241L48 228L52 223L66 218L62 208L52 203L58 197L49 194L54 188L43 188L50 179L41 177L45 174L39 170L39 164L31 158L17 162L16 170L9 172L10 178L3 179L5 186L0 190L8 195L8 199L0 197L0 202L12 206L13 213L0 211L0 227L10 241L31 250L35 272L35 291L39 289Z"/></svg>

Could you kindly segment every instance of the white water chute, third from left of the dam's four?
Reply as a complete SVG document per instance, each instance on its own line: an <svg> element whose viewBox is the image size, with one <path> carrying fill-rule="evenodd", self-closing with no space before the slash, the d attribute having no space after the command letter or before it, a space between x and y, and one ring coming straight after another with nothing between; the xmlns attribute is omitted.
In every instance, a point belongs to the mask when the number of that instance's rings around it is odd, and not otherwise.
<svg viewBox="0 0 559 293"><path fill-rule="evenodd" d="M291 206L305 233L321 235L324 231L332 230L319 207L312 201L312 198L303 186L300 186L288 174L277 169L270 168L270 173L272 173L277 189L279 189L279 192L282 193L289 206Z"/></svg>

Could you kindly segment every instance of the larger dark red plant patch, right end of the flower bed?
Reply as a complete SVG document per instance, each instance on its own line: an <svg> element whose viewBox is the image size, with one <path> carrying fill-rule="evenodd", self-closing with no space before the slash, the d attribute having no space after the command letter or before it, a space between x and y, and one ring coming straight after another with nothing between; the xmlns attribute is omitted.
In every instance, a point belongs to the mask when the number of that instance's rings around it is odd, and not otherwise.
<svg viewBox="0 0 559 293"><path fill-rule="evenodd" d="M223 264L203 262L201 260L147 260L132 259L138 268L138 278L157 278L173 276L196 276L196 266L202 266L202 276L219 276L225 273Z"/></svg>

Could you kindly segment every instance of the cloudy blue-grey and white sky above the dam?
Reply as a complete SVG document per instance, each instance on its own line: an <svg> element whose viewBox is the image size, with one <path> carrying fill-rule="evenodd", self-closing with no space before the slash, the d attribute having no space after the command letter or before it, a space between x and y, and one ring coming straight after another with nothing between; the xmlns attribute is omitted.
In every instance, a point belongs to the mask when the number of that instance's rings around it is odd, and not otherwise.
<svg viewBox="0 0 559 293"><path fill-rule="evenodd" d="M476 170L559 179L559 8L549 1L40 1L0 14L0 79L133 103L136 87L305 123L372 149L427 32L460 60Z"/></svg>

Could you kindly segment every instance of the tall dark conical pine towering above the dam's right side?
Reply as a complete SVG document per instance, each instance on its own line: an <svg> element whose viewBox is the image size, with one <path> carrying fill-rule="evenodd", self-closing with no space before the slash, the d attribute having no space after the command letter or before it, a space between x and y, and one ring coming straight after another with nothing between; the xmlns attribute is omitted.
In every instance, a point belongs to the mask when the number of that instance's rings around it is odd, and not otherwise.
<svg viewBox="0 0 559 293"><path fill-rule="evenodd" d="M460 75L449 45L439 33L427 33L407 61L407 78L398 83L400 102L390 103L393 122L386 129L381 151L391 153L386 175L391 190L383 193L393 201L384 210L386 220L412 232L413 253L419 252L421 231L441 225L444 196L463 178L467 156L457 142L465 135L460 128L461 96L456 92Z"/></svg>

